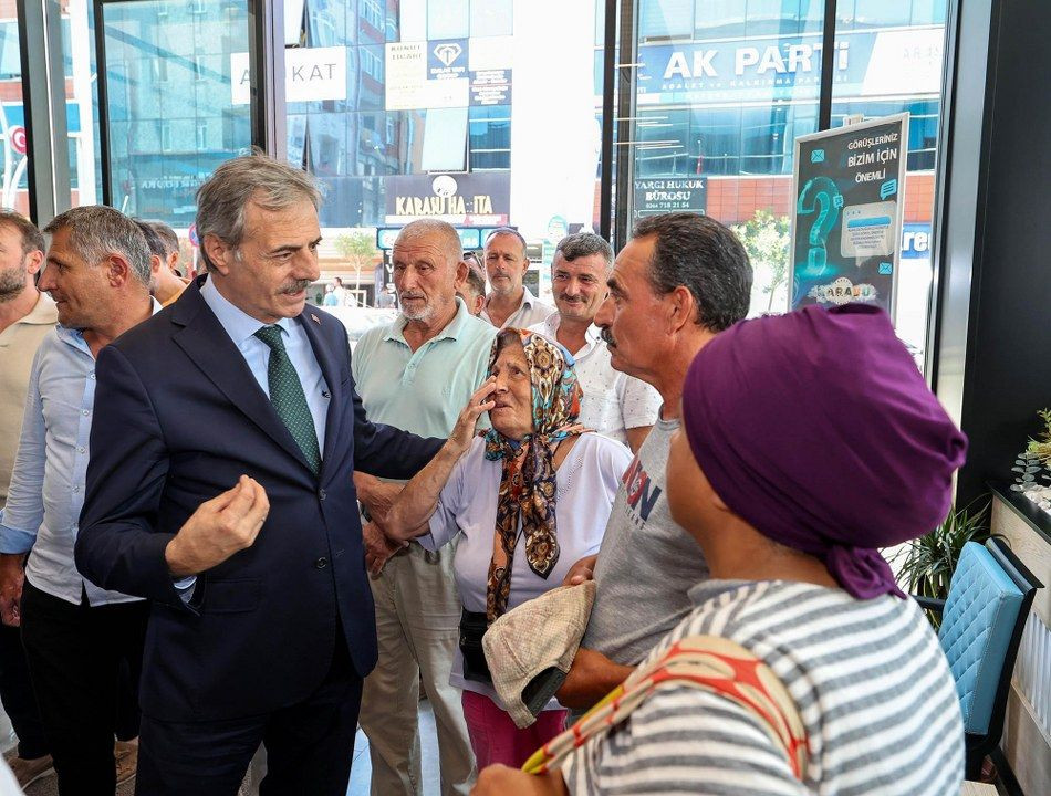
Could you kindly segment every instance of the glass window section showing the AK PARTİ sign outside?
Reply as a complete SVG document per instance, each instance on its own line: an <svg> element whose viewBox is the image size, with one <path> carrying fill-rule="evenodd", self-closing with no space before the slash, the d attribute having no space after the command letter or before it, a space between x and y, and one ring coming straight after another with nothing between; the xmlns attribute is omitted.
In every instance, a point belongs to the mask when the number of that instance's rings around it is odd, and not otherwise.
<svg viewBox="0 0 1051 796"><path fill-rule="evenodd" d="M832 126L908 111L903 339L926 337L945 0L841 0ZM783 312L797 137L818 129L820 0L639 0L631 219L672 209L732 226L756 266L752 314ZM674 198L669 198L674 197ZM922 250L922 251L920 251Z"/></svg>

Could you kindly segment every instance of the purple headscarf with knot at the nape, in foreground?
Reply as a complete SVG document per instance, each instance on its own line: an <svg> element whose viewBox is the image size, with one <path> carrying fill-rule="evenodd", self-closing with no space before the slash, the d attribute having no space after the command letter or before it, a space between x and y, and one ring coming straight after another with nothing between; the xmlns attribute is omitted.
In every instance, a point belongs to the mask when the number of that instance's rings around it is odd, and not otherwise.
<svg viewBox="0 0 1051 796"><path fill-rule="evenodd" d="M945 517L967 449L889 317L863 304L717 335L687 373L683 423L730 511L863 599L902 594L877 548Z"/></svg>

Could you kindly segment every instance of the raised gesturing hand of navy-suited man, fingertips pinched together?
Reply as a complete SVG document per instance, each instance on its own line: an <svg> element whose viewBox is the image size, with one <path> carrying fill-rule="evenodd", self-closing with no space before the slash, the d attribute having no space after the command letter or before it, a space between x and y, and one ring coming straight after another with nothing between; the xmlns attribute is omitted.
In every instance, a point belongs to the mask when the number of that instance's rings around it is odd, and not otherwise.
<svg viewBox="0 0 1051 796"><path fill-rule="evenodd" d="M251 547L270 513L267 492L241 475L237 485L201 503L168 542L164 557L175 577L189 577Z"/></svg>

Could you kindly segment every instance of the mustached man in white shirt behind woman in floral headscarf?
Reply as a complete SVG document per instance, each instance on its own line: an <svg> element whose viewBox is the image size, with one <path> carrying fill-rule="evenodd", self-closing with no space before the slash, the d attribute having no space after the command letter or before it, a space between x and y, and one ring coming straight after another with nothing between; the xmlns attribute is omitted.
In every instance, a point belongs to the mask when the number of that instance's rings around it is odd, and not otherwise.
<svg viewBox="0 0 1051 796"><path fill-rule="evenodd" d="M563 238L551 261L559 311L530 331L558 341L576 359L576 378L584 391L580 421L637 453L657 421L660 394L642 379L613 369L610 348L594 325L608 293L611 271L613 247L600 235L577 232Z"/></svg>

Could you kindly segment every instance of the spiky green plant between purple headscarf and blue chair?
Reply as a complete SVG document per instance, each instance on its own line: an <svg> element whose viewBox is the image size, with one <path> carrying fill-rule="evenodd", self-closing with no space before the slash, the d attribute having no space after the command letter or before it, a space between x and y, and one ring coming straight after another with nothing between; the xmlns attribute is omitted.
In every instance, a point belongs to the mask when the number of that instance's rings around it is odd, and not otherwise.
<svg viewBox="0 0 1051 796"><path fill-rule="evenodd" d="M946 598L964 545L968 542L985 544L992 536L989 505L987 495L959 510L954 505L949 515L934 531L908 542L897 552L892 563L896 565L898 583L907 593L935 599ZM935 628L940 626L939 615L928 611L927 616Z"/></svg>

